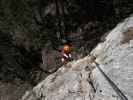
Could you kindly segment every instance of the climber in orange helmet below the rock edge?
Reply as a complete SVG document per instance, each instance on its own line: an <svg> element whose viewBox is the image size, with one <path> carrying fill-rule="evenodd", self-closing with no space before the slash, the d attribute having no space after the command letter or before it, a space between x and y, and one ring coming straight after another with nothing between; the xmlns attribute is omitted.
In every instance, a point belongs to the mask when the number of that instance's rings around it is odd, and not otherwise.
<svg viewBox="0 0 133 100"><path fill-rule="evenodd" d="M62 63L66 64L68 61L72 60L71 56L71 44L70 43L64 43L63 48L59 49L59 52L61 53L61 61Z"/></svg>

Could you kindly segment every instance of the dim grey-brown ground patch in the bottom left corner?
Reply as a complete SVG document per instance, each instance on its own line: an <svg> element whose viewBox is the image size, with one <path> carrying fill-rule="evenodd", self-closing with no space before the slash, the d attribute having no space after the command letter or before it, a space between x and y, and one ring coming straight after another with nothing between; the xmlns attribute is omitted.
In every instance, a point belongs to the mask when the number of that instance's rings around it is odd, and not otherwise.
<svg viewBox="0 0 133 100"><path fill-rule="evenodd" d="M0 81L0 100L18 100L26 90L30 89L32 89L31 84L26 82L19 85Z"/></svg>

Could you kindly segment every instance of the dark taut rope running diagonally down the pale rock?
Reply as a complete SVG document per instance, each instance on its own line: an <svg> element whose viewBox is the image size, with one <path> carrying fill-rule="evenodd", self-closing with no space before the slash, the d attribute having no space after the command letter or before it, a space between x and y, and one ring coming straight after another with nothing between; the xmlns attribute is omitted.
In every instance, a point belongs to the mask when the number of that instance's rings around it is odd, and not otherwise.
<svg viewBox="0 0 133 100"><path fill-rule="evenodd" d="M94 58L96 59L96 57L93 56L92 60L96 64L96 67L99 69L99 71L102 73L102 75L106 78L106 80L109 82L109 84L114 89L114 91L117 93L117 95L121 98L121 100L128 100L127 97L124 95L124 93L118 88L118 86L100 68L99 64L95 61Z"/></svg>

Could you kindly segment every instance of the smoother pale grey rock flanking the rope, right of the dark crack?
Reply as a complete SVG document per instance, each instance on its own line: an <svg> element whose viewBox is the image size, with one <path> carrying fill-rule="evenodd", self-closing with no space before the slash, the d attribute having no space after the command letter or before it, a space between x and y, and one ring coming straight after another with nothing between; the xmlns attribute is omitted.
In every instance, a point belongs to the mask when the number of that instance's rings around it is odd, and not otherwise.
<svg viewBox="0 0 133 100"><path fill-rule="evenodd" d="M112 81L127 96L133 100L133 17L127 18L118 24L104 43L99 44L92 54L97 56L100 67ZM98 69L92 72L94 85L97 87L96 99L104 96L115 96L115 92L106 82ZM100 90L102 92L100 92ZM105 99L114 100L114 99Z"/></svg>

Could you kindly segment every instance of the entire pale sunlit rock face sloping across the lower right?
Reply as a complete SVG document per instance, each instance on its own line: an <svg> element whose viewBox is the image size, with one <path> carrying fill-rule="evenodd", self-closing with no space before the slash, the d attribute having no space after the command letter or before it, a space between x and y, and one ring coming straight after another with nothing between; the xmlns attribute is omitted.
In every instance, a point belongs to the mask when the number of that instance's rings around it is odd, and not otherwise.
<svg viewBox="0 0 133 100"><path fill-rule="evenodd" d="M91 52L107 76L133 99L133 17L113 29ZM87 56L62 66L20 100L120 100Z"/></svg>

